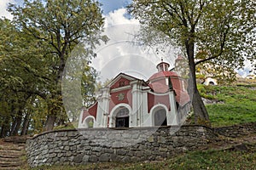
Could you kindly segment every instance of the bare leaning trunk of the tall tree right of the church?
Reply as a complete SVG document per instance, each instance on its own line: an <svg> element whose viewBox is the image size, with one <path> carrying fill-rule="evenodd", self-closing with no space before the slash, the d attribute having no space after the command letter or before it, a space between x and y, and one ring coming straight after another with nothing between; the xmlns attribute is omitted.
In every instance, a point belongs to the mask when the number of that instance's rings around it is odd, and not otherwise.
<svg viewBox="0 0 256 170"><path fill-rule="evenodd" d="M195 114L195 123L209 125L210 120L207 113L206 106L204 105L199 91L196 86L196 77L195 77L195 60L194 60L194 49L195 43L193 38L189 39L186 42L187 54L189 58L189 70L190 70L190 81L189 81L189 93L192 93L192 105Z"/></svg>

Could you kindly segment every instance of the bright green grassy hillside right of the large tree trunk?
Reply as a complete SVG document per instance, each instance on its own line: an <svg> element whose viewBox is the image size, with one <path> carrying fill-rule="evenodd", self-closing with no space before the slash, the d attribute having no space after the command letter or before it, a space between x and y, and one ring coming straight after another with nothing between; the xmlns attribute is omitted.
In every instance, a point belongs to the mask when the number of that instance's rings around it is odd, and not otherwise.
<svg viewBox="0 0 256 170"><path fill-rule="evenodd" d="M224 104L207 105L212 127L256 122L256 85L198 86L201 96Z"/></svg>

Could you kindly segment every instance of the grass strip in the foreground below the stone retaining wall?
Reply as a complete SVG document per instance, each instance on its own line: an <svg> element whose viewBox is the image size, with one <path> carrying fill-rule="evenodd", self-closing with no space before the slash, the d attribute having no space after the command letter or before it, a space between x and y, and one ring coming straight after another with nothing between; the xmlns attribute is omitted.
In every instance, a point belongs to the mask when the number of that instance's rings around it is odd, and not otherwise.
<svg viewBox="0 0 256 170"><path fill-rule="evenodd" d="M256 167L256 144L253 150L206 150L190 151L163 161L119 163L102 162L90 163L84 166L52 166L38 167L33 170L87 170L87 169L255 169Z"/></svg>

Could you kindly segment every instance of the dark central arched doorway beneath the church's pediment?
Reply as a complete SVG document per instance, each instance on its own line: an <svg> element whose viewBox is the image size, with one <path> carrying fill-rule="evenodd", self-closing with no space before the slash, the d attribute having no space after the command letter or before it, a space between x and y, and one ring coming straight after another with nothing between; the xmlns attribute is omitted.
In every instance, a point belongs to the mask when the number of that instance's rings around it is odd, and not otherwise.
<svg viewBox="0 0 256 170"><path fill-rule="evenodd" d="M121 107L115 117L115 127L129 127L129 110Z"/></svg>

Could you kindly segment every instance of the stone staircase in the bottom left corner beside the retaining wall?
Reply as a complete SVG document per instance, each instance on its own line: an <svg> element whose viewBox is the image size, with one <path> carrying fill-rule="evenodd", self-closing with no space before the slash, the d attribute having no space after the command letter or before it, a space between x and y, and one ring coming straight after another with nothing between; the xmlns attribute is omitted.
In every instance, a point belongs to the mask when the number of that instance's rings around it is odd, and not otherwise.
<svg viewBox="0 0 256 170"><path fill-rule="evenodd" d="M0 169L15 170L26 167L24 141L17 139L0 139Z"/></svg>

